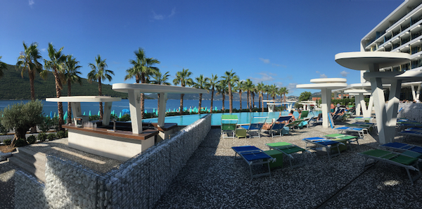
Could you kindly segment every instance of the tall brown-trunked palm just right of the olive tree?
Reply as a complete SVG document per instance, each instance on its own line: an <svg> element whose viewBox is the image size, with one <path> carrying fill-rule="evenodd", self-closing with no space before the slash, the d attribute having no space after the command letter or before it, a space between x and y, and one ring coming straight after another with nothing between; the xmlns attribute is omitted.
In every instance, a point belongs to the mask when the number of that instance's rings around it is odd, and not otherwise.
<svg viewBox="0 0 422 209"><path fill-rule="evenodd" d="M54 49L53 44L49 43L49 58L50 61L44 59L44 66L46 69L51 70L56 81L56 97L59 98L61 95L63 72L65 68L66 56L62 53L62 46L58 51ZM42 72L43 76L46 76L46 71ZM63 103L58 102L58 128L63 129Z"/></svg>

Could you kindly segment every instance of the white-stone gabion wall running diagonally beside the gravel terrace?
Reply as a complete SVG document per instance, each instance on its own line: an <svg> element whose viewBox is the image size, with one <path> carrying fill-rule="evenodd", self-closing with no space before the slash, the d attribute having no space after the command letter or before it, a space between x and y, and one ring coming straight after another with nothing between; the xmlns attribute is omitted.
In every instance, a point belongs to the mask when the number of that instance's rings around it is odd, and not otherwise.
<svg viewBox="0 0 422 209"><path fill-rule="evenodd" d="M45 188L31 175L19 172L16 208L27 208L37 199L38 205L29 208L153 208L210 129L211 115L206 115L102 175L75 162L47 156ZM37 194L21 191L27 184L38 186Z"/></svg>

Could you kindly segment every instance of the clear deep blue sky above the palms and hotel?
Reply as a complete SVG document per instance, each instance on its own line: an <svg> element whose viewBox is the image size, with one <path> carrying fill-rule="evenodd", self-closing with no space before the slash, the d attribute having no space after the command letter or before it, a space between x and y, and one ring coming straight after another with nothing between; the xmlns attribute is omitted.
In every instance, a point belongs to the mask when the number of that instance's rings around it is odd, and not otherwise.
<svg viewBox="0 0 422 209"><path fill-rule="evenodd" d="M37 42L43 58L52 42L91 70L97 54L124 81L134 51L157 58L162 72L188 68L192 77L223 75L295 89L319 77L360 82L359 72L335 63L336 53L359 42L402 0L333 1L0 1L1 61L15 64L23 41ZM23 81L25 82L25 81Z"/></svg>

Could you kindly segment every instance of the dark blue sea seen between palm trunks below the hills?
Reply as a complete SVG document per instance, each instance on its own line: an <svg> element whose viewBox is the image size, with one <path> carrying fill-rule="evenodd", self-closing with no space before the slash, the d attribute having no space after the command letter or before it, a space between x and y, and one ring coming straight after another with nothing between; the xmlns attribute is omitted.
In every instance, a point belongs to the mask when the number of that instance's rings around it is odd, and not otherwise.
<svg viewBox="0 0 422 209"><path fill-rule="evenodd" d="M30 100L0 100L0 110L6 108L7 106L12 106L15 103L27 103ZM43 103L43 114L54 116L58 113L57 111L57 103L41 100ZM193 109L198 108L199 101L198 100L184 100L183 101L184 108L186 109ZM145 100L145 110L147 113L153 113L157 110L158 100L157 99L146 99ZM180 106L180 99L168 99L166 104L166 110L176 111ZM255 106L259 107L259 103L255 101ZM210 100L203 100L201 107L210 109L211 108L211 101ZM212 109L221 110L223 107L222 101L214 101ZM247 101L242 101L242 108L247 107ZM266 107L266 103L264 103L264 107ZM82 113L84 115L97 115L99 113L99 103L98 102L82 102L81 103ZM224 101L224 108L229 109L229 99ZM240 101L233 101L233 108L240 108ZM63 103L63 113L68 110L68 103ZM117 116L120 116L120 113L124 113L129 110L129 100L122 99L122 101L114 101L113 106L111 107L112 113ZM123 114L122 114L123 115Z"/></svg>

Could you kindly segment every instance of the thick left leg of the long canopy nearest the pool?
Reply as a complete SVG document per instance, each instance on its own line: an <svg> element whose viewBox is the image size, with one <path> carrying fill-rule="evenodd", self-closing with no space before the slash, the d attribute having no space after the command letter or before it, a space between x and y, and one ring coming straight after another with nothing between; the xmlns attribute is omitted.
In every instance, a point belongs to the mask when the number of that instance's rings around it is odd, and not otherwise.
<svg viewBox="0 0 422 209"><path fill-rule="evenodd" d="M141 134L142 133L141 91L129 89L127 93L129 96L129 110L130 110L130 119L132 120L132 132L134 134Z"/></svg>

